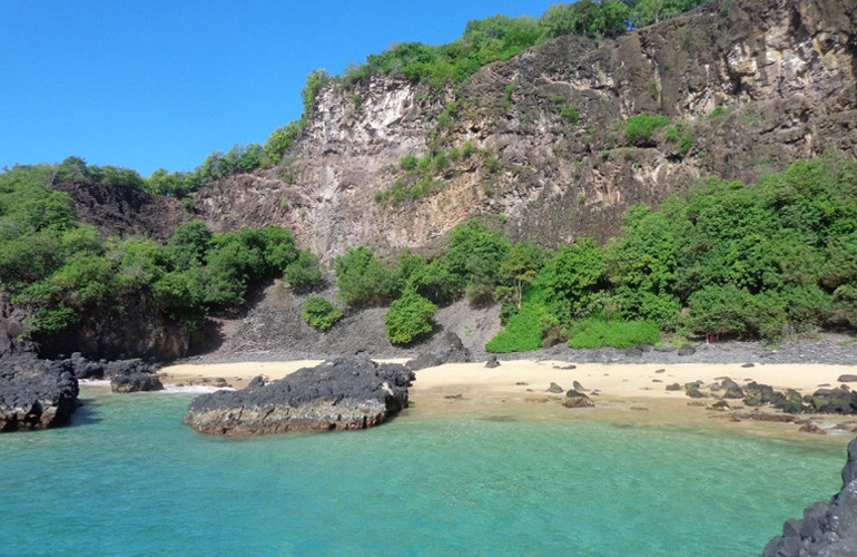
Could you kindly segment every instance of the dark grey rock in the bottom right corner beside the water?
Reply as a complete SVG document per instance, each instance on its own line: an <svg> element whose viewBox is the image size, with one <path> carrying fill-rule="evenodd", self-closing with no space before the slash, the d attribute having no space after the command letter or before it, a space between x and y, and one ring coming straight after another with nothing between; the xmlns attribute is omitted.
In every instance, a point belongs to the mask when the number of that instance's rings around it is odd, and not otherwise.
<svg viewBox="0 0 857 557"><path fill-rule="evenodd" d="M771 539L762 557L844 557L857 555L857 438L848 444L843 489L830 502L804 509L804 519L790 519L782 536Z"/></svg>

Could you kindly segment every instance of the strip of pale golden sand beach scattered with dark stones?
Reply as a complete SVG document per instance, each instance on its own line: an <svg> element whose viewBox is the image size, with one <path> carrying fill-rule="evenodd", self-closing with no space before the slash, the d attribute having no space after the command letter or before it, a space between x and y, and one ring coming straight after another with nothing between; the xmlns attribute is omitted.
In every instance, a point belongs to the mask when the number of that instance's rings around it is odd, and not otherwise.
<svg viewBox="0 0 857 557"><path fill-rule="evenodd" d="M165 385L243 388L256 375L282 379L323 360L178 364L158 373ZM403 363L404 359L385 359ZM670 383L701 380L706 384L729 377L738 383L766 383L776 390L795 389L802 394L822 387L837 387L837 378L856 373L857 365L841 364L735 364L735 363L570 363L561 360L505 360L486 369L484 362L450 363L415 372L410 388L410 408L402 416L484 414L496 419L583 419L631 423L639 427L690 427L700 430L743 432L801 443L844 444L857 433L857 414L797 414L827 434L798 431L795 422L749 419L753 408L729 401L729 411L713 410L718 399L691 399L683 388L667 391ZM573 365L573 369L569 369ZM562 405L564 392L578 381L594 408ZM548 392L551 383L562 388ZM174 391L175 392L175 391ZM779 414L762 407L765 414Z"/></svg>

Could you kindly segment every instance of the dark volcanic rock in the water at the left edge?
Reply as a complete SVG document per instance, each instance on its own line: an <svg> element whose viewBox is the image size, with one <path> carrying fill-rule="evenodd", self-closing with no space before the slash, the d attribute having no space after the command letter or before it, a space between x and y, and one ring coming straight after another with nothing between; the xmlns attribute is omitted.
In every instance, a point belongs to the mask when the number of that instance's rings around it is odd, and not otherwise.
<svg viewBox="0 0 857 557"><path fill-rule="evenodd" d="M68 361L0 354L0 432L62 426L78 408L77 397L78 380Z"/></svg>

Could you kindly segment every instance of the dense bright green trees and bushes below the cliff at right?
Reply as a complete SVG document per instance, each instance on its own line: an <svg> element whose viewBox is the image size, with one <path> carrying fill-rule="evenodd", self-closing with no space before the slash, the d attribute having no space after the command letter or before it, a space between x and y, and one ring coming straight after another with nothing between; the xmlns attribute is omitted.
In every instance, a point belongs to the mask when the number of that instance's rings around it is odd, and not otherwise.
<svg viewBox="0 0 857 557"><path fill-rule="evenodd" d="M854 328L857 164L797 162L756 185L709 178L658 211L633 206L620 237L562 247L521 290L520 309L501 296L506 329L487 350L532 350L552 320L574 346Z"/></svg>

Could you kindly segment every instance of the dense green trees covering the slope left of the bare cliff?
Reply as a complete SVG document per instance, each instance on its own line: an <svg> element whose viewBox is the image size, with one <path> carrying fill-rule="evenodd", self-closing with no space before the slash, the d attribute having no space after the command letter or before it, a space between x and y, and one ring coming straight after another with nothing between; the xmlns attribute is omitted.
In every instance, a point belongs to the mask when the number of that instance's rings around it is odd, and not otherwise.
<svg viewBox="0 0 857 557"><path fill-rule="evenodd" d="M0 290L29 315L29 332L51 334L81 319L129 312L198 328L208 313L234 312L249 287L286 268L301 285L316 280L317 260L278 226L213 234L190 222L166 244L105 240L77 222L69 196L51 185L121 179L134 186L135 174L111 168L70 157L0 174Z"/></svg>

